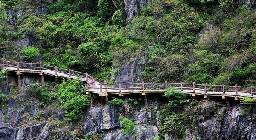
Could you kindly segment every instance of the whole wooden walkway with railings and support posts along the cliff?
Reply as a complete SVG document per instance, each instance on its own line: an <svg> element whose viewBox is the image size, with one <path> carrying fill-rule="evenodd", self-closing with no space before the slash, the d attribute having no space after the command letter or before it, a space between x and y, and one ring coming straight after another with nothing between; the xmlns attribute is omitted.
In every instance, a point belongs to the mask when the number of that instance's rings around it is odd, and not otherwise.
<svg viewBox="0 0 256 140"><path fill-rule="evenodd" d="M209 84L195 84L195 83L131 83L131 84L107 84L99 83L94 80L93 76L88 73L81 73L78 71L53 67L43 63L20 63L11 61L2 61L1 69L16 72L18 75L18 87L21 88L20 75L22 73L39 73L41 75L41 85L44 85L44 75L54 76L55 78L73 78L86 82L87 94L99 94L105 96L108 102L108 95L116 94L124 96L128 94L159 94L166 90L174 89L192 96L202 95L204 98L213 96L220 96L223 99L232 97L235 100L244 97L256 98L255 87L241 87L238 85L209 85ZM146 96L145 96L146 97Z"/></svg>

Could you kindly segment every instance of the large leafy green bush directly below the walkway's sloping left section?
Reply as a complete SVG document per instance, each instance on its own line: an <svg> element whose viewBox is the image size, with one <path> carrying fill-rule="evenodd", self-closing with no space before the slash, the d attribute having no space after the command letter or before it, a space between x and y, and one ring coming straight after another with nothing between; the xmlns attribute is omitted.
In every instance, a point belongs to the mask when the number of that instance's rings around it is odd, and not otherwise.
<svg viewBox="0 0 256 140"><path fill-rule="evenodd" d="M79 80L68 79L64 80L55 91L67 120L79 120L84 109L90 106L90 95L84 95L83 86Z"/></svg>

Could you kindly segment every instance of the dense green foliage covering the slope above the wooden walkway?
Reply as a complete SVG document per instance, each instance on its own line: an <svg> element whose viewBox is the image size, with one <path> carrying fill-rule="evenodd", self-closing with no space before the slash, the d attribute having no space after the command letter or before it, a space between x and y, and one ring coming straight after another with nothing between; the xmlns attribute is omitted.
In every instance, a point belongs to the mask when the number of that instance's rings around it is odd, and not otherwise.
<svg viewBox="0 0 256 140"><path fill-rule="evenodd" d="M42 1L48 14L25 8L35 8L37 0L21 3L1 3L0 53L6 59L38 57L108 81L122 64L146 55L143 81L255 83L256 14L235 0L153 0L128 24L123 3L116 9L111 0L99 0L97 10L92 0ZM11 21L9 9L24 13ZM197 36L205 23L213 27ZM15 40L22 39L30 39L30 47L17 48Z"/></svg>

